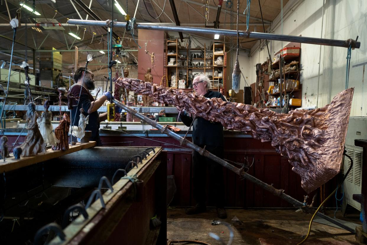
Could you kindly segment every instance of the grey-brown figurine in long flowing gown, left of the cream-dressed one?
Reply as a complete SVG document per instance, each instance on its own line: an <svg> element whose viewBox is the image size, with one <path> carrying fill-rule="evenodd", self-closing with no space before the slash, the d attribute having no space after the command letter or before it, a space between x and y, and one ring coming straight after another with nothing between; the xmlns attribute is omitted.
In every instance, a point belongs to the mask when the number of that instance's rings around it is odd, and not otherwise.
<svg viewBox="0 0 367 245"><path fill-rule="evenodd" d="M37 155L39 152L46 151L46 145L38 129L37 118L36 105L33 102L29 102L27 111L28 134L24 143L20 146L22 148L22 156Z"/></svg>

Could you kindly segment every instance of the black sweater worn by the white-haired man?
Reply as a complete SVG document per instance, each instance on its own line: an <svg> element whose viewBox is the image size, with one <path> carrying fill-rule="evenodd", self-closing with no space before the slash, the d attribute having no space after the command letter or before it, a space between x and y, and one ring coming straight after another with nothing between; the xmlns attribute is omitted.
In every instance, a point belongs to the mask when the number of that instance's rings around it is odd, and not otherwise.
<svg viewBox="0 0 367 245"><path fill-rule="evenodd" d="M224 96L219 92L208 91L204 94L206 98L221 98L226 101ZM186 126L190 126L192 123L192 117L187 113L181 112L180 118ZM219 122L210 122L203 118L197 117L193 123L192 141L197 145L224 145L223 126Z"/></svg>

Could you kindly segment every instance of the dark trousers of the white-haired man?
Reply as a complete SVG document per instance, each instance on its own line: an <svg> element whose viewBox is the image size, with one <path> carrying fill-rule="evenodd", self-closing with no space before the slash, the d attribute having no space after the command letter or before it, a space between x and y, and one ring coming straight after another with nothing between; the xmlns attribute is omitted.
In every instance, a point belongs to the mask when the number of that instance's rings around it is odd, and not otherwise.
<svg viewBox="0 0 367 245"><path fill-rule="evenodd" d="M199 145L204 148L204 145ZM222 146L207 145L205 148L210 153L223 159L224 149ZM206 205L206 190L209 191L209 199L215 202L217 208L224 207L224 179L223 167L217 162L201 156L199 152L194 151L192 155L193 162L193 194L198 205ZM206 176L209 169L209 186L206 188Z"/></svg>

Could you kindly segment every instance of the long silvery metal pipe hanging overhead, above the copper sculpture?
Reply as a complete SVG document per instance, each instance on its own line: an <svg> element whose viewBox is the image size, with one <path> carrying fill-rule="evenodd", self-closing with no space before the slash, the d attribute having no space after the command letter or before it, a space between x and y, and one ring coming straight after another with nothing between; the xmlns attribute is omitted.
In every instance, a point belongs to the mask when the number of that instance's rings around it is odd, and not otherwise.
<svg viewBox="0 0 367 245"><path fill-rule="evenodd" d="M106 26L106 21L92 21L83 19L69 19L69 24L74 25L87 25L87 26ZM125 27L126 22L114 22L113 26ZM187 32L187 33L201 33L201 34L219 34L224 36L237 36L236 30L225 30L225 29L211 29L203 27L190 27L190 26L170 26L170 25L159 25L159 24L137 24L136 29L145 30L164 30L172 32ZM261 33L261 32L244 32L239 31L240 37L247 38L258 38L285 42L296 42L296 43L309 43L317 45L335 46L335 47L348 47L349 44L346 40L334 40L334 39L322 39L316 37L303 37L303 36L290 36L281 34ZM356 42L355 48L359 48L360 42Z"/></svg>

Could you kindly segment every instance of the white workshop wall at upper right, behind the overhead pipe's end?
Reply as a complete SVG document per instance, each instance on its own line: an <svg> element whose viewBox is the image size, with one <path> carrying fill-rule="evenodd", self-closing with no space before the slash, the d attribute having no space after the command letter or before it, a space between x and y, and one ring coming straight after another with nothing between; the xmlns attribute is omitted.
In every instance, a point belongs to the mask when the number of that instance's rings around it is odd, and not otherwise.
<svg viewBox="0 0 367 245"><path fill-rule="evenodd" d="M322 29L322 33L321 33ZM351 116L366 116L367 86L362 83L363 65L367 62L367 2L364 0L291 0L283 9L283 34L328 39L355 39L359 35L359 49L352 50L349 86L355 87ZM281 34L280 15L273 21L272 33ZM266 46L258 51L259 42L250 53L250 83L255 82L254 65L265 61ZM274 55L288 42L270 41L270 54ZM314 44L301 44L302 106L323 107L345 89L347 48ZM320 58L320 75L319 75ZM259 62L260 60L260 62ZM252 71L253 70L253 71Z"/></svg>

